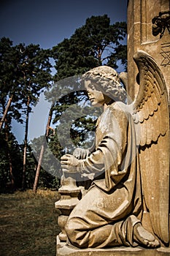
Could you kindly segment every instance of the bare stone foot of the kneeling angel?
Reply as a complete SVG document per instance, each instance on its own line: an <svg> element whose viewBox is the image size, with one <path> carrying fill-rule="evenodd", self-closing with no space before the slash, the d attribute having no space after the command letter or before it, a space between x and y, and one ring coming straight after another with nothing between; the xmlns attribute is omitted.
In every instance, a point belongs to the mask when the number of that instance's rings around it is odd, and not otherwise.
<svg viewBox="0 0 170 256"><path fill-rule="evenodd" d="M141 223L134 225L134 241L137 244L147 246L149 248L157 248L160 246L160 243L150 232L142 227Z"/></svg>

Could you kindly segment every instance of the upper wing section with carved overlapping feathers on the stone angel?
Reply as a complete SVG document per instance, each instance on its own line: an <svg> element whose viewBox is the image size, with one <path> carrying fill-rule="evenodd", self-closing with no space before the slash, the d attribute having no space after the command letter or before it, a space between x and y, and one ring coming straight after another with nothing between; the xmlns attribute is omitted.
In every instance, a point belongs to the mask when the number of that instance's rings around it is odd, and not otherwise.
<svg viewBox="0 0 170 256"><path fill-rule="evenodd" d="M139 69L139 93L134 100L134 122L141 126L141 146L156 142L160 135L169 130L169 121L165 116L168 105L166 84L155 61L142 50L139 50L134 61Z"/></svg>

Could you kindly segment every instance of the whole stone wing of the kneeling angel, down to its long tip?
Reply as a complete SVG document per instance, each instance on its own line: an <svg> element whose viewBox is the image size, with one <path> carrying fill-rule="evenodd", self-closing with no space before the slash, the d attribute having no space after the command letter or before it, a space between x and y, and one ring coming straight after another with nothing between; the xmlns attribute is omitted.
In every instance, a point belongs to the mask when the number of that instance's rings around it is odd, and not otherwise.
<svg viewBox="0 0 170 256"><path fill-rule="evenodd" d="M152 231L169 243L169 103L158 64L142 50L134 61L139 69L139 92L131 104L139 143L144 205Z"/></svg>

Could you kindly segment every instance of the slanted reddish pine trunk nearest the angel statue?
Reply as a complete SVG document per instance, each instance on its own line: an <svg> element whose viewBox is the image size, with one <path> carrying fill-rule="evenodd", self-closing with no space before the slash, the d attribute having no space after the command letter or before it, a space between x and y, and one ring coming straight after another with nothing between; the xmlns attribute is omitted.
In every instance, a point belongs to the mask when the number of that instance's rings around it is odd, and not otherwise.
<svg viewBox="0 0 170 256"><path fill-rule="evenodd" d="M48 138L49 136L49 130L50 130L50 123L51 123L51 119L53 116L53 106L50 108L50 112L48 115L48 121L47 121L47 126L46 126L46 132L45 132L45 138ZM45 142L42 144L42 148L39 154L39 162L38 165L36 167L36 176L35 176L35 180L34 180L34 187L33 187L33 192L36 193L38 184L39 184L39 173L40 173L40 169L41 169L41 165L42 165L42 158L43 158L43 154L45 151Z"/></svg>

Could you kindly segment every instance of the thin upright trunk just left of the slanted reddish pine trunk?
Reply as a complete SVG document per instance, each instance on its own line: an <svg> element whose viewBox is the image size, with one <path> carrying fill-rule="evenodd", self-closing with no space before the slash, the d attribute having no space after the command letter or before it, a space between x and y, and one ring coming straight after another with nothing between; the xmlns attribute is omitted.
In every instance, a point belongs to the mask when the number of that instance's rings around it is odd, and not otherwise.
<svg viewBox="0 0 170 256"><path fill-rule="evenodd" d="M29 103L30 103L30 99L29 99L29 97L28 97L28 101L27 101L27 110L26 110L26 129L25 129L24 148L23 148L23 179L22 179L22 190L26 189L26 149L27 149L27 139L28 139Z"/></svg>

